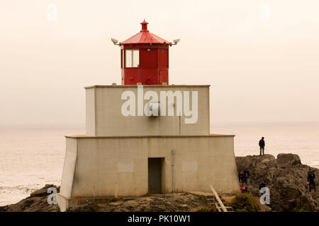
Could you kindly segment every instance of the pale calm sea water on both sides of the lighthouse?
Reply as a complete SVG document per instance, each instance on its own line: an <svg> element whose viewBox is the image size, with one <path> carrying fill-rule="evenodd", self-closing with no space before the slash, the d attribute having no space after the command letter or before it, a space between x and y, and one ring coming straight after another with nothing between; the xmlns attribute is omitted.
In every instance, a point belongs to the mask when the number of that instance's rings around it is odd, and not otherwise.
<svg viewBox="0 0 319 226"><path fill-rule="evenodd" d="M16 203L44 184L60 185L65 135L84 134L84 127L0 128L0 206ZM298 126L213 126L211 133L235 134L235 155L295 153L301 162L319 167L319 124Z"/></svg>

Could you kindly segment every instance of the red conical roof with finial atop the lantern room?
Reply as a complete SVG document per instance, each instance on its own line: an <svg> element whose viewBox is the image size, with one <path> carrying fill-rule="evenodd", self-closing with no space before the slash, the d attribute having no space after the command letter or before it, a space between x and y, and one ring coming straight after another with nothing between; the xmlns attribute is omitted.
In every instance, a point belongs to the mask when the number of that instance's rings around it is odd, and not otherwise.
<svg viewBox="0 0 319 226"><path fill-rule="evenodd" d="M139 43L161 43L161 44L170 44L166 40L163 40L161 37L152 34L147 30L147 22L144 20L142 23L142 30L138 34L130 37L128 40L121 42L121 44L139 44Z"/></svg>

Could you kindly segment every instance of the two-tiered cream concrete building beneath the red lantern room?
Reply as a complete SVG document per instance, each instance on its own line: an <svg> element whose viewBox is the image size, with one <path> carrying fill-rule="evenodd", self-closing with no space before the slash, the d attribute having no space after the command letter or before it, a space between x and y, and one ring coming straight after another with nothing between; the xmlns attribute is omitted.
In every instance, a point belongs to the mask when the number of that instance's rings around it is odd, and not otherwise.
<svg viewBox="0 0 319 226"><path fill-rule="evenodd" d="M86 135L66 136L61 210L90 198L210 191L210 185L218 192L239 191L234 136L209 131L209 85L143 85L144 95L150 90L197 91L196 123L185 124L187 117L176 115L177 97L174 105L166 97L166 110L174 109L174 116L125 117L121 108L127 100L121 96L125 91L137 96L138 85L87 87Z"/></svg>

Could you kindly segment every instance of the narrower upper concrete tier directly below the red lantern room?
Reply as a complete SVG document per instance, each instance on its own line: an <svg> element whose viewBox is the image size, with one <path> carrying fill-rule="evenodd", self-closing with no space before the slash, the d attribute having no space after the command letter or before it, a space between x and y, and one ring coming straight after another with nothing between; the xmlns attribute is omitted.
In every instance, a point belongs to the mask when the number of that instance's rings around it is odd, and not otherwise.
<svg viewBox="0 0 319 226"><path fill-rule="evenodd" d="M135 93L138 108L138 85L95 85L86 88L86 135L88 136L168 136L168 135L208 135L209 134L209 85L143 85L144 93L153 90L159 99L160 91L173 93L177 90L198 91L198 120L195 124L185 124L184 114L176 116L177 103L174 100L175 116L128 116L121 114L126 100L121 100L124 91ZM175 98L176 99L176 98ZM158 100L160 102L160 100ZM149 100L144 100L143 106ZM166 101L167 109L169 107ZM137 110L136 110L137 112Z"/></svg>

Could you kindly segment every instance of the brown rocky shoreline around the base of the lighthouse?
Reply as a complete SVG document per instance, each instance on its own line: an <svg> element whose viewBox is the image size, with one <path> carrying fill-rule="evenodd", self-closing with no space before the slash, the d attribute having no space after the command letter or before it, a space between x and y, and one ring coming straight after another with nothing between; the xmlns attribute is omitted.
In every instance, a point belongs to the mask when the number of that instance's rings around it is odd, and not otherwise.
<svg viewBox="0 0 319 226"><path fill-rule="evenodd" d="M248 155L235 157L237 170L250 170L250 185L247 191L258 201L259 184L267 182L270 204L261 211L319 211L319 192L308 191L307 173L311 168L318 177L318 169L301 164L300 157L293 154ZM29 197L16 204L0 206L0 212L58 212L57 205L47 203L47 189L60 187L46 184ZM260 205L259 205L260 206ZM271 209L270 209L271 208ZM110 198L106 204L86 203L69 211L206 211L209 205L205 198L189 193L163 194L138 198ZM264 209L264 210L263 210Z"/></svg>

